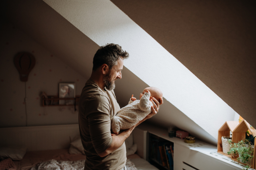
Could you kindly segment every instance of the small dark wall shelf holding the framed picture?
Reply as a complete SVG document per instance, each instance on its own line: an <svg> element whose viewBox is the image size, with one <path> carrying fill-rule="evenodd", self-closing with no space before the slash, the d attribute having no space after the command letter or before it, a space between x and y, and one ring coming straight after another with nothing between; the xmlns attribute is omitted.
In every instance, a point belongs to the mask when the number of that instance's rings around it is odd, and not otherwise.
<svg viewBox="0 0 256 170"><path fill-rule="evenodd" d="M58 96L47 96L46 98L45 96L43 96L42 98L43 98L42 100L43 107L44 106L74 106L79 104L80 96L76 96L75 98L59 98ZM74 104L60 105L59 104L60 100L73 100Z"/></svg>

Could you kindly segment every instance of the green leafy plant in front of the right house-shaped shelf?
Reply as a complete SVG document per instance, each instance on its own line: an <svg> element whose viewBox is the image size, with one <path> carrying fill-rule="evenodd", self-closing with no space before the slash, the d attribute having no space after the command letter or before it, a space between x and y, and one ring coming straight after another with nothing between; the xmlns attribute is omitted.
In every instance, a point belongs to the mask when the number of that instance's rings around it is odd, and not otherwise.
<svg viewBox="0 0 256 170"><path fill-rule="evenodd" d="M233 157L239 156L237 161L241 161L242 163L246 164L246 166L243 167L243 170L248 170L248 168L251 167L250 162L248 163L248 161L253 159L254 146L250 142L252 139L242 139L238 143L230 142L230 144L232 143L230 145L230 151L227 152L227 154L231 154Z"/></svg>

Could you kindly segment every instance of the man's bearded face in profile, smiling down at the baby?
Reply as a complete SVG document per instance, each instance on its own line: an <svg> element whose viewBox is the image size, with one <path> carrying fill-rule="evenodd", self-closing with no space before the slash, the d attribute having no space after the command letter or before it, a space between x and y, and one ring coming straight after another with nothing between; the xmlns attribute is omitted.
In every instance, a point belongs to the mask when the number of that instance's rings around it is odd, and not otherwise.
<svg viewBox="0 0 256 170"><path fill-rule="evenodd" d="M121 71L122 71L123 65L124 65L123 59L119 58L117 60L117 64L114 65L111 68L111 70L109 70L108 73L103 78L103 81L105 83L105 87L109 91L113 90L116 87L115 80L122 78Z"/></svg>

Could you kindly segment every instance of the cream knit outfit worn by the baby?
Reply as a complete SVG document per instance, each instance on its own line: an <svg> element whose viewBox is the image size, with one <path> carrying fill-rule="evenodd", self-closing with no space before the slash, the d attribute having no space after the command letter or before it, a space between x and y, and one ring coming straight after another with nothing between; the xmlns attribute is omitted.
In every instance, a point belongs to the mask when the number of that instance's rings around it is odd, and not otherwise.
<svg viewBox="0 0 256 170"><path fill-rule="evenodd" d="M152 102L149 100L150 94L145 93L140 100L132 101L127 106L117 112L111 121L111 129L114 133L120 129L128 129L151 113Z"/></svg>

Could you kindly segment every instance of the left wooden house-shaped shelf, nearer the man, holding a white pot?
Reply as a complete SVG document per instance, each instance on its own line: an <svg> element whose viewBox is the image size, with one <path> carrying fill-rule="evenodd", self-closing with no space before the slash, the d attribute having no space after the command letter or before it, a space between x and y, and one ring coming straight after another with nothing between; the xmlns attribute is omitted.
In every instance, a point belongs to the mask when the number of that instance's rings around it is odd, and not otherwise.
<svg viewBox="0 0 256 170"><path fill-rule="evenodd" d="M235 128L238 125L239 125L238 121L227 121L218 130L218 146L217 146L218 153L221 153L222 155L225 155L225 156L228 156L231 158L231 155L227 155L227 154L223 153L221 137L222 136L230 136L230 131L233 134L233 131L235 130Z"/></svg>

